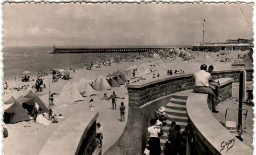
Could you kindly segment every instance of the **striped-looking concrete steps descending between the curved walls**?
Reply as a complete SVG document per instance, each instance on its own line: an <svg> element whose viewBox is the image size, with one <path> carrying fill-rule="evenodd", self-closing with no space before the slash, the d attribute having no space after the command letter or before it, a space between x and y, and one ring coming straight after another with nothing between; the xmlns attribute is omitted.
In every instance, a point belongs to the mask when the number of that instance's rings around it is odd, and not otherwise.
<svg viewBox="0 0 256 155"><path fill-rule="evenodd" d="M167 139L168 130L171 127L171 122L175 121L177 125L181 126L181 132L184 131L187 125L187 112L186 112L186 102L188 95L192 90L181 91L174 93L169 103L166 105L165 112L168 114L169 118L166 121L166 126L163 127L164 135L160 137L161 153L164 153L164 145Z"/></svg>

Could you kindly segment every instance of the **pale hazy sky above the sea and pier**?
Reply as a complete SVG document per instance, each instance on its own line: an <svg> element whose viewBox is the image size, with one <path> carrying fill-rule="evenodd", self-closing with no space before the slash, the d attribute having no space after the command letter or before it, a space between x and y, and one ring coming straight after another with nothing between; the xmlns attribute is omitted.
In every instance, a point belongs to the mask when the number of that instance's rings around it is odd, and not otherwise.
<svg viewBox="0 0 256 155"><path fill-rule="evenodd" d="M4 46L171 46L253 37L252 4L5 3Z"/></svg>

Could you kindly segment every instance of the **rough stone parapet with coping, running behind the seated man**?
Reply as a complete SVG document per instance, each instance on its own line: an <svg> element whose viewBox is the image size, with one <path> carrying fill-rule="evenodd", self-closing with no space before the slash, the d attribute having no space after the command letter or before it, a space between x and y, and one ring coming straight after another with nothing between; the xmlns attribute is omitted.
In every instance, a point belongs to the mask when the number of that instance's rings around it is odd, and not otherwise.
<svg viewBox="0 0 256 155"><path fill-rule="evenodd" d="M253 69L245 69L247 81L253 80ZM215 71L218 78L233 78L239 82L240 69ZM147 81L140 81L127 86L129 106L139 107L151 100L170 95L174 92L192 89L193 74L159 77Z"/></svg>

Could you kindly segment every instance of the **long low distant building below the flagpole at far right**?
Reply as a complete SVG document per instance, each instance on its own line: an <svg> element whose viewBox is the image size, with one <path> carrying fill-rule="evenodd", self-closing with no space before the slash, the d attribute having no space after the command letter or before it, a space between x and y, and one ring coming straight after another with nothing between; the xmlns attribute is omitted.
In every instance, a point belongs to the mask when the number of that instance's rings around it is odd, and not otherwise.
<svg viewBox="0 0 256 155"><path fill-rule="evenodd" d="M253 39L228 39L225 43L200 43L199 45L191 45L193 51L238 51L250 50L253 47Z"/></svg>

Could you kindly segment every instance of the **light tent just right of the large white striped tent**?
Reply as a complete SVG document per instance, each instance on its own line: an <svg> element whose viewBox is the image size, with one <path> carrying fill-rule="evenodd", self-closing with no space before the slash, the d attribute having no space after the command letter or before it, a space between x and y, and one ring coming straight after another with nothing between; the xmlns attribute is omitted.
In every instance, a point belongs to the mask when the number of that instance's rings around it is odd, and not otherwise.
<svg viewBox="0 0 256 155"><path fill-rule="evenodd" d="M83 80L80 80L78 83L74 82L73 85L77 87L78 92L84 97L99 95L99 93L91 87L89 82L83 82Z"/></svg>

